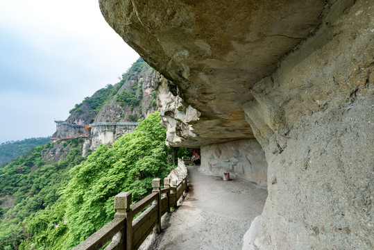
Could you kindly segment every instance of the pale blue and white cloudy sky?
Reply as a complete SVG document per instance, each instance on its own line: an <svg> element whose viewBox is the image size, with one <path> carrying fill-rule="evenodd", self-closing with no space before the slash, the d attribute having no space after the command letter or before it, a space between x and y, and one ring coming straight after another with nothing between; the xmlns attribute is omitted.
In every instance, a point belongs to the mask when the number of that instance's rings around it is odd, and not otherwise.
<svg viewBox="0 0 374 250"><path fill-rule="evenodd" d="M0 3L0 143L52 135L53 119L117 83L139 57L98 0Z"/></svg>

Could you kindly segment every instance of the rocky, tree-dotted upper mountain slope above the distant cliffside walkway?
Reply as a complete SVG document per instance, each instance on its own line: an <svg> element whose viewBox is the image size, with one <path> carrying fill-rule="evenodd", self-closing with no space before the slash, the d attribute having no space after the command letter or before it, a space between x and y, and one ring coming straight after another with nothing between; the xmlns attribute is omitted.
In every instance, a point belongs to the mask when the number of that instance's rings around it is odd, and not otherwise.
<svg viewBox="0 0 374 250"><path fill-rule="evenodd" d="M69 113L66 122L90 124L92 122L137 122L147 113L156 111L153 73L142 58L122 74L121 80L97 90L91 97L85 97ZM150 110L151 112L147 112ZM58 133L53 135L58 137Z"/></svg>

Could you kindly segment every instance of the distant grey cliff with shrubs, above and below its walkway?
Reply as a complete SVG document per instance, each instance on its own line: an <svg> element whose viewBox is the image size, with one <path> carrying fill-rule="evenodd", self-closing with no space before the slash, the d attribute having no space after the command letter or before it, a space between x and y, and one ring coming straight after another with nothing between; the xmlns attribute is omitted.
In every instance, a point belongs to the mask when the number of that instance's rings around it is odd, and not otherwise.
<svg viewBox="0 0 374 250"><path fill-rule="evenodd" d="M137 122L157 110L154 81L154 69L140 58L123 74L119 83L108 85L76 104L70 110L71 115L58 123L52 137L84 136L83 156L101 143L112 144L124 133L132 132L135 126L108 123ZM89 124L94 125L86 130L85 126Z"/></svg>

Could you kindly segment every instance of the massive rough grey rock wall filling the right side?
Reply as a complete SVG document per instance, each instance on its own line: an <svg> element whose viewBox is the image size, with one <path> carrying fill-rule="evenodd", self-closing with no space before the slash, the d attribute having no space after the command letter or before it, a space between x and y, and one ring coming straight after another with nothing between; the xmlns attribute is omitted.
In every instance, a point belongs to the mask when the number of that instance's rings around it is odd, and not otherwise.
<svg viewBox="0 0 374 250"><path fill-rule="evenodd" d="M244 110L269 166L260 249L374 247L373 9L334 4L250 90Z"/></svg>

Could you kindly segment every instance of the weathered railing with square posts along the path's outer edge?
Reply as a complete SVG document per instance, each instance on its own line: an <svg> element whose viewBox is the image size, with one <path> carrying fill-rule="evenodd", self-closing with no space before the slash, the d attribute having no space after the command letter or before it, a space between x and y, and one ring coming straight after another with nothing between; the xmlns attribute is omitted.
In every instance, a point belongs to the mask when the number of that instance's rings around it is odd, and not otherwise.
<svg viewBox="0 0 374 250"><path fill-rule="evenodd" d="M164 178L164 188L162 189L160 189L161 179L153 179L152 193L133 206L130 206L132 203L131 192L117 194L114 197L114 208L116 209L114 219L87 240L78 244L73 250L101 249L110 241L105 250L135 250L140 247L153 228L160 233L162 215L170 212L170 208L176 207L178 201L187 192L187 168L184 163L180 166L180 163L181 161L178 160L178 179L175 178L175 174L172 180ZM176 172L175 169L173 172ZM145 208L146 210L141 213ZM141 214L134 219L139 213Z"/></svg>

